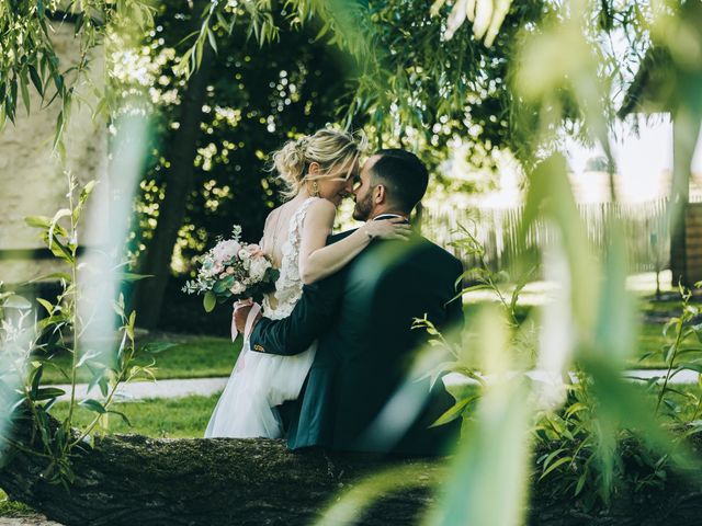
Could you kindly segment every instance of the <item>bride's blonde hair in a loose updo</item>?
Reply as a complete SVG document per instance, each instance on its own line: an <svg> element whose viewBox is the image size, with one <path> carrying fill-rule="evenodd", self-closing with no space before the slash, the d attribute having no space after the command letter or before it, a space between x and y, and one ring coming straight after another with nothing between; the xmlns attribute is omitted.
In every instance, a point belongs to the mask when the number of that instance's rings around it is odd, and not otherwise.
<svg viewBox="0 0 702 526"><path fill-rule="evenodd" d="M312 181L340 178L348 180L361 153L367 148L367 139L361 133L351 134L322 128L314 135L288 140L272 153L272 169L287 186L286 197L297 195ZM319 164L319 174L309 175L309 164ZM346 170L346 171L344 171Z"/></svg>

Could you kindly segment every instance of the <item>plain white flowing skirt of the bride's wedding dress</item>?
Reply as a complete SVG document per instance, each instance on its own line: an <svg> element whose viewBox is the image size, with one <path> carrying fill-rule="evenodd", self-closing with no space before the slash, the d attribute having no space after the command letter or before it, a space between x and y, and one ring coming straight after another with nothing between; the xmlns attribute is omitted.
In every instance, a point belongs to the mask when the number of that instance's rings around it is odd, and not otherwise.
<svg viewBox="0 0 702 526"><path fill-rule="evenodd" d="M317 344L294 356L257 353L244 347L212 413L205 438L280 438L283 426L276 405L299 396Z"/></svg>

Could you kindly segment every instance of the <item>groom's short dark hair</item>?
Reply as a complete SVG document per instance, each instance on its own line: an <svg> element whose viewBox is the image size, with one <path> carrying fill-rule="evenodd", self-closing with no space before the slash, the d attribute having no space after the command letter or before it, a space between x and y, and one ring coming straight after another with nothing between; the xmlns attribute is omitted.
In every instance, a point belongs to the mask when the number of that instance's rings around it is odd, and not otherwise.
<svg viewBox="0 0 702 526"><path fill-rule="evenodd" d="M378 150L375 155L381 158L371 168L373 183L385 186L387 199L409 214L427 192L427 167L416 155L399 148Z"/></svg>

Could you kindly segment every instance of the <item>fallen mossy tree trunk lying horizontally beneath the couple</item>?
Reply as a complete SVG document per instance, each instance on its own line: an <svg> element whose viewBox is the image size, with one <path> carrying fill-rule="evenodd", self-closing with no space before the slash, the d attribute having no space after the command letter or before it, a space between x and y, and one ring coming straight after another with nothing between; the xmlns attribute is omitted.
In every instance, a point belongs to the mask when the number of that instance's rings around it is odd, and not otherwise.
<svg viewBox="0 0 702 526"><path fill-rule="evenodd" d="M26 444L29 430L16 438ZM700 449L702 439L695 443ZM374 455L291 453L282 441L162 439L106 436L75 451L68 491L42 479L46 460L12 450L0 469L0 488L65 525L307 525L328 504L388 466L401 467L392 491L371 490L372 507L355 524L418 524L446 480L450 459L383 460ZM634 462L632 462L634 465ZM555 479L554 479L555 480ZM578 512L571 499L554 499L551 479L535 485L529 524L534 526L698 525L702 481L671 473L665 488L616 496L607 512ZM499 505L496 502L496 505ZM338 524L330 519L328 524Z"/></svg>

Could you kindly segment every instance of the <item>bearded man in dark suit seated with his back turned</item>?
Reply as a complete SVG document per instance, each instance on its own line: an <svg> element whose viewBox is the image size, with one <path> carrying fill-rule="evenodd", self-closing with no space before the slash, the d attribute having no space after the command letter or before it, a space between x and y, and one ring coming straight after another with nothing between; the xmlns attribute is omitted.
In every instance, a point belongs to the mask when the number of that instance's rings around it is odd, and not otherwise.
<svg viewBox="0 0 702 526"><path fill-rule="evenodd" d="M353 217L409 222L427 183L427 169L415 155L380 150L355 181ZM429 428L453 399L441 381L431 388L428 378L408 378L427 341L423 329L410 327L426 315L441 330L460 330L461 298L453 298L462 272L457 259L419 233L409 241L372 240L337 274L305 286L288 318L257 322L250 336L254 352L294 355L318 342L299 398L280 408L291 449L446 453L460 419ZM240 329L248 310L235 313Z"/></svg>

